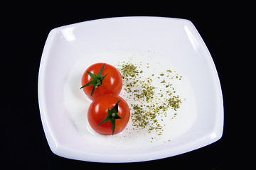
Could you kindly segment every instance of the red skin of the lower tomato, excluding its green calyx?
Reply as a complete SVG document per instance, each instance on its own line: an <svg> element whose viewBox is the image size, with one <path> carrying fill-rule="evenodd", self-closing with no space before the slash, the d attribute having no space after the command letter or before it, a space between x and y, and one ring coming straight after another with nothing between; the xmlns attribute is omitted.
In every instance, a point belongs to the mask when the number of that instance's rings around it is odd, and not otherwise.
<svg viewBox="0 0 256 170"><path fill-rule="evenodd" d="M88 122L95 132L101 135L112 135L112 125L110 121L100 125L98 124L107 117L108 108L111 110L119 100L118 115L122 119L115 120L114 134L124 130L130 118L130 111L127 102L124 101L124 99L120 96L114 94L105 94L96 98L95 101L92 101L88 108Z"/></svg>

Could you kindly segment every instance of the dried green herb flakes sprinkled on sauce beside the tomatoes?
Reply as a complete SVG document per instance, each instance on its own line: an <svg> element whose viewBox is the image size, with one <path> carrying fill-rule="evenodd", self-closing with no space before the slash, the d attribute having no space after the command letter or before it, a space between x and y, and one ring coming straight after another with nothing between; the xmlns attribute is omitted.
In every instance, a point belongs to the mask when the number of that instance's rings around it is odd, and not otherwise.
<svg viewBox="0 0 256 170"><path fill-rule="evenodd" d="M181 80L182 77L170 69L145 77L143 73L151 66L147 63L144 70L141 67L142 62L139 64L122 62L117 65L123 78L124 96L131 101L129 107L134 128L137 128L138 132L139 130L146 130L149 133L154 131L160 136L164 131L162 122L169 114L169 109L177 111L181 105L181 99L176 95L170 80ZM154 81L159 81L159 86L154 86ZM176 118L176 115L177 113L174 113L171 120Z"/></svg>

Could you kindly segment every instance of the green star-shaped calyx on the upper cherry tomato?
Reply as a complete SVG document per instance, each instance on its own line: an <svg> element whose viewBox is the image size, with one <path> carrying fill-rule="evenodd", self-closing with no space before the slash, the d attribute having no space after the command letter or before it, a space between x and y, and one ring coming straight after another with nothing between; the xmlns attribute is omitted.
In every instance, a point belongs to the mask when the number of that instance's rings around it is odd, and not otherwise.
<svg viewBox="0 0 256 170"><path fill-rule="evenodd" d="M87 71L89 76L92 77L92 81L90 81L89 83L81 86L80 89L82 89L82 88L84 88L86 86L93 86L92 92L91 92L91 96L92 96L92 94L94 93L95 89L102 85L103 79L107 76L107 74L104 77L102 76L102 72L103 72L104 67L105 67L105 64L103 64L103 66L100 69L100 72L97 74L97 76L95 74L92 74L91 72Z"/></svg>

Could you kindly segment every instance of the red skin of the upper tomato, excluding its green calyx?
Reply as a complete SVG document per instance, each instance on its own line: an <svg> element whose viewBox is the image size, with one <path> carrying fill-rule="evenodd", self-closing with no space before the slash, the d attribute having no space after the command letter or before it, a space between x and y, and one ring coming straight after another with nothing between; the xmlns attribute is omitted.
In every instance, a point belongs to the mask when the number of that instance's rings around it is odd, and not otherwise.
<svg viewBox="0 0 256 170"><path fill-rule="evenodd" d="M92 64L90 67L88 67L84 74L82 74L82 86L92 81L92 78L87 73L91 72L92 74L97 75L100 72L100 69L102 68L102 65L104 63L96 63ZM110 64L105 64L105 68L103 69L102 75L105 76L105 79L102 81L102 85L98 86L95 89L94 94L91 96L92 92L92 86L87 86L82 88L85 92L86 96L90 98L92 101L98 98L99 96L102 96L104 94L120 94L120 91L122 90L122 75L118 71L117 68Z"/></svg>

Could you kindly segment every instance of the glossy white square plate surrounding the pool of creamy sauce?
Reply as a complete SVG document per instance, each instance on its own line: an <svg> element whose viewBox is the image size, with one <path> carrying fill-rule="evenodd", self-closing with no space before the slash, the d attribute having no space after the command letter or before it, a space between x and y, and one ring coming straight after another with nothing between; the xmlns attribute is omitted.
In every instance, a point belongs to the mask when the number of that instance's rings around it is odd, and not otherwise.
<svg viewBox="0 0 256 170"><path fill-rule="evenodd" d="M87 58L85 69L95 62L111 64L117 56L104 56L110 51L154 52L163 57L160 62L175 64L186 74L196 98L197 116L191 128L171 142L136 149L106 147L88 139L89 136L83 137L65 106L65 84L75 64L88 56L91 58ZM209 145L223 134L223 98L213 59L193 23L184 19L105 18L51 30L41 58L38 100L50 149L70 159L89 162L161 159Z"/></svg>

